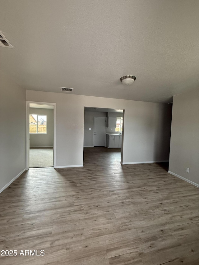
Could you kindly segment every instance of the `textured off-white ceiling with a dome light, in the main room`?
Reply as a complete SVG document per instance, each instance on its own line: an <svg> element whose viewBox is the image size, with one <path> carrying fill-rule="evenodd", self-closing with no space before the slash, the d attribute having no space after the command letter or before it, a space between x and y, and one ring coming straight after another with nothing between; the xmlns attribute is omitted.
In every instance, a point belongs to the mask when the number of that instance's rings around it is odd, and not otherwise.
<svg viewBox="0 0 199 265"><path fill-rule="evenodd" d="M0 68L25 89L169 103L199 88L198 29L198 0L1 0Z"/></svg>

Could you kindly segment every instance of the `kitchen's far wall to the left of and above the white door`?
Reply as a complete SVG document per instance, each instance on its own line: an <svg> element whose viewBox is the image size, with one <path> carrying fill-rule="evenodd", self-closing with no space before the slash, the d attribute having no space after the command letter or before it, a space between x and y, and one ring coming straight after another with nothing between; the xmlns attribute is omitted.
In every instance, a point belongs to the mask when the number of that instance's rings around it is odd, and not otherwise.
<svg viewBox="0 0 199 265"><path fill-rule="evenodd" d="M106 112L84 112L84 146L93 146L94 117L106 117ZM91 128L91 130L89 130Z"/></svg>

